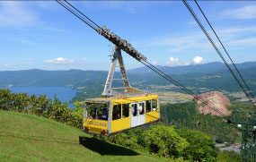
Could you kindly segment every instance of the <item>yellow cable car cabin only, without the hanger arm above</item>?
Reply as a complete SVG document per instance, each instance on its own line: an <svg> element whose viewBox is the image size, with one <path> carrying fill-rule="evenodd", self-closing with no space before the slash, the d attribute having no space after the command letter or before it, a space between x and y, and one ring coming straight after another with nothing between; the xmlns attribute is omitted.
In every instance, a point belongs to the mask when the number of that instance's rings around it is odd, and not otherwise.
<svg viewBox="0 0 256 162"><path fill-rule="evenodd" d="M93 98L85 101L84 131L102 134L122 132L160 117L157 95Z"/></svg>

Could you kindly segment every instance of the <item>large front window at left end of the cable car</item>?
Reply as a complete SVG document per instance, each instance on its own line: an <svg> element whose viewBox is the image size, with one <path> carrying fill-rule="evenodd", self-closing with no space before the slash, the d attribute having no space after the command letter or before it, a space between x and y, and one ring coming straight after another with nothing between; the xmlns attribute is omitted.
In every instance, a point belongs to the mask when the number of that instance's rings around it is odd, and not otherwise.
<svg viewBox="0 0 256 162"><path fill-rule="evenodd" d="M108 120L109 108L107 104L89 103L86 110L87 118Z"/></svg>

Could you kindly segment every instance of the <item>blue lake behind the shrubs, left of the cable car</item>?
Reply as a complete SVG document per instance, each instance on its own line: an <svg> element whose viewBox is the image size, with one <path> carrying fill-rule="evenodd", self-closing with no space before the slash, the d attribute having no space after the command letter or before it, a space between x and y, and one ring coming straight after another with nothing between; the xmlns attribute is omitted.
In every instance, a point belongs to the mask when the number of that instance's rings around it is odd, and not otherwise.
<svg viewBox="0 0 256 162"><path fill-rule="evenodd" d="M28 93L29 95L46 95L47 98L53 99L55 95L61 102L69 102L75 97L76 90L71 87L11 87L13 93ZM73 108L72 104L69 107Z"/></svg>

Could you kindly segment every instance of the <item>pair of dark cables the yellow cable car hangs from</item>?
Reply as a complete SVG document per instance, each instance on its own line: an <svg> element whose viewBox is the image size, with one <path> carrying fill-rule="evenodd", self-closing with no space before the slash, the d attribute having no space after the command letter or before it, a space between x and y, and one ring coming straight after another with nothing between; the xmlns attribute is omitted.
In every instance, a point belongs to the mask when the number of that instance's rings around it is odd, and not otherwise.
<svg viewBox="0 0 256 162"><path fill-rule="evenodd" d="M66 8L66 10L68 10L70 13L73 13L77 18L79 18L81 21L84 21L87 25L89 25L91 28L93 28L93 30L98 31L97 27L99 27L99 25L97 25L95 22L93 22L92 20L90 20L87 16L84 15L84 13L81 13L78 9L75 8L75 6L73 6L72 4L67 3L66 1L58 1L56 0L58 4L61 4L63 7ZM65 4L67 3L67 4ZM70 8L71 7L71 8ZM75 12L76 11L76 12ZM78 13L77 13L78 12ZM79 14L80 13L80 14ZM84 18L85 17L85 18ZM88 21L89 20L89 21ZM93 24L91 24L93 22ZM99 27L100 30L102 29L101 27ZM110 39L109 39L110 40ZM112 40L110 40L111 42L113 42ZM128 53L129 54L129 53ZM131 55L131 54L129 54ZM206 100L204 100L203 98L200 98L199 96L197 96L195 93L193 93L191 90L187 89L184 85L182 85L180 82L175 81L174 79L172 79L171 76L167 75L166 73L164 73L163 71L161 71L160 69L158 69L157 67L155 67L153 64L150 64L149 62L146 61L146 59L142 59L140 57L135 57L134 55L131 55L134 58L137 59L137 61L139 61L141 64L146 65L146 67L148 67L149 69L151 69L152 71L156 72L158 75L162 76L165 80L172 82L172 84L174 84L175 86L179 87L181 90L185 91L186 93L190 94L192 97L196 98L197 100L199 100L201 103L206 104L208 107L210 107L211 109L213 109L214 111L216 111L219 115L225 116L222 111L220 111L219 109L217 109L216 107L213 107L211 105L209 105L207 103Z"/></svg>

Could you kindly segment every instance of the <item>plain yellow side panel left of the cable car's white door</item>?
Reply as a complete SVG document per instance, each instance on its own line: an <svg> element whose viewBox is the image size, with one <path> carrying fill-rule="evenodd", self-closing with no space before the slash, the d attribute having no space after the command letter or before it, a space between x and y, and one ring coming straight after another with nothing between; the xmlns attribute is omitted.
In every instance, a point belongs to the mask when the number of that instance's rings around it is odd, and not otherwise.
<svg viewBox="0 0 256 162"><path fill-rule="evenodd" d="M130 117L112 120L111 122L111 132L120 132L128 128L130 128Z"/></svg>

